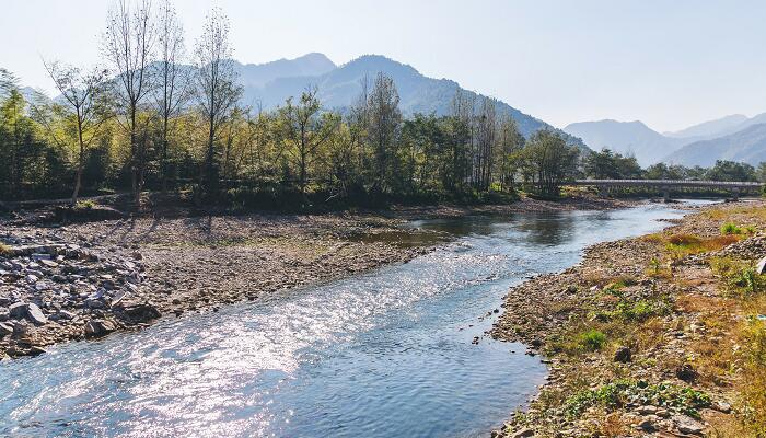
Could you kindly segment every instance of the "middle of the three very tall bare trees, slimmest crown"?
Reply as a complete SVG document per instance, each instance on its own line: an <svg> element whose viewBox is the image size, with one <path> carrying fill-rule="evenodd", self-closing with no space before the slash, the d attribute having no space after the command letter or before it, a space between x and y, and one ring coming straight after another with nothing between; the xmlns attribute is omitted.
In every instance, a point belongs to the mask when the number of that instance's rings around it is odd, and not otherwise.
<svg viewBox="0 0 766 438"><path fill-rule="evenodd" d="M172 122L181 114L188 99L188 69L181 65L184 57L184 27L170 0L160 7L158 19L159 62L155 64L156 111L161 118L160 174L162 191L167 189L167 145Z"/></svg>

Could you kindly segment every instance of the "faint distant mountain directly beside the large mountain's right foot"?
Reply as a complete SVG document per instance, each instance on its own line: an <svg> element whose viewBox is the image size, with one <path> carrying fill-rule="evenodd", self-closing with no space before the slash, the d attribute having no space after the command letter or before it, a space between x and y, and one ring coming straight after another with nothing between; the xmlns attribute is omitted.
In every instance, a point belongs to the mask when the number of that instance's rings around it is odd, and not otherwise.
<svg viewBox="0 0 766 438"><path fill-rule="evenodd" d="M657 163L670 151L682 147L685 141L665 137L638 120L573 123L565 127L564 131L581 138L594 150L608 148L624 155L632 154L642 166Z"/></svg>

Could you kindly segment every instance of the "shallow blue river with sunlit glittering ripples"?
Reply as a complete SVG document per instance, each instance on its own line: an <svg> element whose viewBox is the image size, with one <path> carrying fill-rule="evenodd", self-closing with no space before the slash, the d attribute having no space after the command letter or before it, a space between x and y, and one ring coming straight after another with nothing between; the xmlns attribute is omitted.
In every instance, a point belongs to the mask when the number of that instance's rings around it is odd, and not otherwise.
<svg viewBox="0 0 766 438"><path fill-rule="evenodd" d="M509 286L681 216L648 205L414 222L453 240L407 264L1 364L0 436L487 436L546 374L523 345L484 336Z"/></svg>

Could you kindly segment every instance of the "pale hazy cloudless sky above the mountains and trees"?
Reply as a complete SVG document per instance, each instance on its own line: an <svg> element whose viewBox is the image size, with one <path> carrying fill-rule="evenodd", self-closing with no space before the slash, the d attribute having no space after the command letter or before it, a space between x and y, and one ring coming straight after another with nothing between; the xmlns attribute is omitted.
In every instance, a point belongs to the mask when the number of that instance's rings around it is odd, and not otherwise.
<svg viewBox="0 0 766 438"><path fill-rule="evenodd" d="M2 0L0 66L50 89L40 56L97 61L108 4ZM381 54L558 127L766 112L766 1L176 0L188 46L213 4L240 61Z"/></svg>

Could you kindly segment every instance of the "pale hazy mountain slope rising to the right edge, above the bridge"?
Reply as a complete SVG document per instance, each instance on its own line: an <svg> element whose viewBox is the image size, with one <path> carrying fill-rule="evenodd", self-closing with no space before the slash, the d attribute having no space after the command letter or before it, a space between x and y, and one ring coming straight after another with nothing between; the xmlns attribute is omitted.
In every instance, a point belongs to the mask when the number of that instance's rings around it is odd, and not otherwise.
<svg viewBox="0 0 766 438"><path fill-rule="evenodd" d="M720 138L686 145L663 161L687 166L710 166L716 160L741 161L752 165L766 161L766 124L751 125Z"/></svg>

